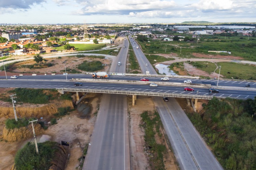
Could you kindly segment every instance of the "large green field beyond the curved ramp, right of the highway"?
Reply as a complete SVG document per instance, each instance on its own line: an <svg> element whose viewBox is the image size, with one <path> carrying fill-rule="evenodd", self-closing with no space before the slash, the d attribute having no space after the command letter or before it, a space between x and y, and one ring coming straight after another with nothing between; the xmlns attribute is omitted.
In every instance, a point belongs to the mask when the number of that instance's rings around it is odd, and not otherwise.
<svg viewBox="0 0 256 170"><path fill-rule="evenodd" d="M172 34L176 35L176 34ZM181 35L181 34L179 34ZM184 37L191 35L184 34ZM151 39L148 41L138 41L144 53L166 53L175 52L181 57L194 57L192 53L217 54L211 51L230 51L233 56L241 56L244 60L256 61L256 37L244 38L240 34L226 37L225 35L200 35L200 41L159 41ZM181 49L182 48L182 49ZM180 54L181 50L181 54ZM219 55L230 55L228 53L218 53Z"/></svg>

